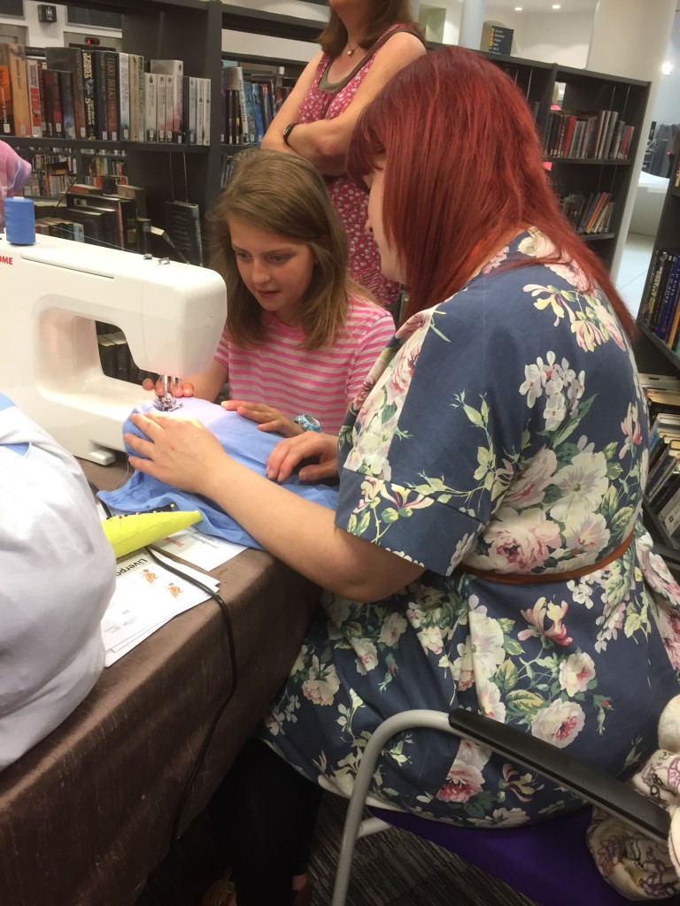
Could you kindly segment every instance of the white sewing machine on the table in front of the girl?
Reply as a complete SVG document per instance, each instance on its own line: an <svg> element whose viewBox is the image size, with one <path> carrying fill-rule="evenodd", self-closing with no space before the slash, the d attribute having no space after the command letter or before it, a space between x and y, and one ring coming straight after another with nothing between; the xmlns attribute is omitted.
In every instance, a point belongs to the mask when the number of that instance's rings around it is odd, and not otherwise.
<svg viewBox="0 0 680 906"><path fill-rule="evenodd" d="M227 317L215 271L52 236L0 236L0 392L74 456L102 465L148 396L102 372L95 321L116 324L143 370L204 371Z"/></svg>

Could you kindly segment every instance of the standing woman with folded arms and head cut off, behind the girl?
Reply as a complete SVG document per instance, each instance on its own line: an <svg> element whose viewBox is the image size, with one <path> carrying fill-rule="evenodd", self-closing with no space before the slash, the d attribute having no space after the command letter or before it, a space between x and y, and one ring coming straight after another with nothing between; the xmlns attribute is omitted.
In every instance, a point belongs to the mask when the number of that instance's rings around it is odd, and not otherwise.
<svg viewBox="0 0 680 906"><path fill-rule="evenodd" d="M345 226L349 272L378 302L393 306L399 284L384 277L373 236L364 232L368 194L346 172L361 111L393 75L425 53L408 0L331 0L321 52L306 65L267 130L263 148L299 154L325 176Z"/></svg>

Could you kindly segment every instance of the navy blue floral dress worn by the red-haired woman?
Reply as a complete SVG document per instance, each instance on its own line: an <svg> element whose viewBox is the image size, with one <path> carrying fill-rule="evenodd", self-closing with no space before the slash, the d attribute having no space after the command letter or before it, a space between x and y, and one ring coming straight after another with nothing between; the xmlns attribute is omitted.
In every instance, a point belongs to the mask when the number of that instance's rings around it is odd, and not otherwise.
<svg viewBox="0 0 680 906"><path fill-rule="evenodd" d="M521 233L376 362L340 438L335 523L422 564L370 604L324 593L262 736L349 795L374 728L408 708L470 708L614 775L656 748L680 691L680 588L640 523L645 402L606 298ZM504 584L466 572L568 573ZM372 801L457 824L578 805L490 750L393 737Z"/></svg>

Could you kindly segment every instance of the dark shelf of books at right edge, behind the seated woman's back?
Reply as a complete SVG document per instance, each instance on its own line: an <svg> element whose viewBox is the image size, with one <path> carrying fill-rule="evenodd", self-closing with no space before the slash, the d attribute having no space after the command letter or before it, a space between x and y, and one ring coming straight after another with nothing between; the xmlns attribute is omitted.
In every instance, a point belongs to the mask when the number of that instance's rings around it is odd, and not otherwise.
<svg viewBox="0 0 680 906"><path fill-rule="evenodd" d="M680 452L680 159L675 158L668 179L664 208L659 221L654 249L647 272L637 326L646 341L647 361L659 375L659 385L669 389L657 390L656 399L650 398L650 474L646 487L646 522L653 535L660 541L662 550L675 562L680 561L680 527L675 523L680 509L674 513L674 488L680 487L680 459L675 464L675 454ZM638 365L640 356L637 356ZM642 368L641 368L642 370ZM660 439L659 439L660 436ZM656 463L655 439L663 452L671 455L669 469L659 476L663 463ZM666 457L667 458L667 457ZM656 487L655 487L656 484Z"/></svg>

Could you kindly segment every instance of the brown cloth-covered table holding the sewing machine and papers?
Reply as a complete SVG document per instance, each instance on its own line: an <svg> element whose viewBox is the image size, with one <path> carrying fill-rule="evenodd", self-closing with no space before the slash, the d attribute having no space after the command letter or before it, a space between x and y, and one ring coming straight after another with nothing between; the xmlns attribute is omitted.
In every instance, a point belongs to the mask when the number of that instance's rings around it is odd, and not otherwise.
<svg viewBox="0 0 680 906"><path fill-rule="evenodd" d="M116 466L83 470L100 488L120 480ZM212 574L233 623L238 688L180 830L209 801L287 677L318 596L262 551L238 554ZM0 773L0 903L132 906L169 850L180 795L232 680L213 601L104 670L59 728Z"/></svg>

